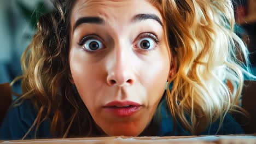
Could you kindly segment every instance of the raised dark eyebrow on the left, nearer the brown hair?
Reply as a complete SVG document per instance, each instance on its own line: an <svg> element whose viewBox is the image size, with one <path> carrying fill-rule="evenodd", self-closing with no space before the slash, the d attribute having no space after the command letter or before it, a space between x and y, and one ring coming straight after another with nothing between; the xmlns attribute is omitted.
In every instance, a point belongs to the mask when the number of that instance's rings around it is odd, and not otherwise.
<svg viewBox="0 0 256 144"><path fill-rule="evenodd" d="M77 28L79 25L82 25L83 23L96 23L99 25L104 25L105 21L101 17L80 17L77 21L75 21L73 32L75 28Z"/></svg>

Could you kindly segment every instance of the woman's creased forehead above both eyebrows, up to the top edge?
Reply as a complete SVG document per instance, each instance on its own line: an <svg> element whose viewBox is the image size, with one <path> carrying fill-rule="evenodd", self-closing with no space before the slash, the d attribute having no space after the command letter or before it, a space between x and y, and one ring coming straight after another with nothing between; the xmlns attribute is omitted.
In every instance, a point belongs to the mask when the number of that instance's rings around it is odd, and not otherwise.
<svg viewBox="0 0 256 144"><path fill-rule="evenodd" d="M97 16L106 21L130 21L136 14L155 14L162 21L156 3L146 0L78 0L71 12L71 26L80 17Z"/></svg>

